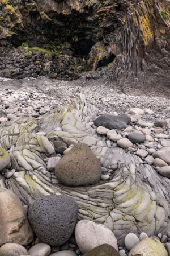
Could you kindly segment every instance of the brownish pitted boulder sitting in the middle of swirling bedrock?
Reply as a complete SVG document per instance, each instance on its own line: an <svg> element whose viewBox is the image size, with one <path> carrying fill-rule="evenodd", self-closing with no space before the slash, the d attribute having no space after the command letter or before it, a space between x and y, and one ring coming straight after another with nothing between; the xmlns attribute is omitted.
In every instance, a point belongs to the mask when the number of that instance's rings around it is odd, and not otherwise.
<svg viewBox="0 0 170 256"><path fill-rule="evenodd" d="M100 180L101 167L90 147L79 143L59 160L55 175L66 185L89 185Z"/></svg>

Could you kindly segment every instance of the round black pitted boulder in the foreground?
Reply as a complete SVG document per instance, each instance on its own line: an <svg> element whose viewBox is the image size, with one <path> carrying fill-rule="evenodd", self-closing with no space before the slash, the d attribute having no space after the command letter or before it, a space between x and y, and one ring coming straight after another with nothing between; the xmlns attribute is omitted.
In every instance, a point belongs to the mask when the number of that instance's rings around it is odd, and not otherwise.
<svg viewBox="0 0 170 256"><path fill-rule="evenodd" d="M69 240L78 217L78 206L71 197L49 195L35 200L28 209L28 219L36 236L50 246Z"/></svg>

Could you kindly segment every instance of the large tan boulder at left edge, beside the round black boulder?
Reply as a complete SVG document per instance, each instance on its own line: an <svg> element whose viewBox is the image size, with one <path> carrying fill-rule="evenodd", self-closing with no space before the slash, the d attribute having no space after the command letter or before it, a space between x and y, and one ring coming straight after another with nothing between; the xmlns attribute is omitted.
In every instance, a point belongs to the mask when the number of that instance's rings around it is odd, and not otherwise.
<svg viewBox="0 0 170 256"><path fill-rule="evenodd" d="M28 245L33 232L18 197L7 190L0 191L0 245L15 242Z"/></svg>

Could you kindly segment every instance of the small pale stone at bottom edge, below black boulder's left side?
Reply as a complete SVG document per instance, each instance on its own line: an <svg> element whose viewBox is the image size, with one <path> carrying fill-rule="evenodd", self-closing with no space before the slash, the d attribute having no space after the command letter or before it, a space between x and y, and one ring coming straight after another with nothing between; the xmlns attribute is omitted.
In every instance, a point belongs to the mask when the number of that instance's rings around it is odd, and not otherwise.
<svg viewBox="0 0 170 256"><path fill-rule="evenodd" d="M30 256L48 256L51 252L51 248L49 245L45 243L38 243L29 249L28 255Z"/></svg>

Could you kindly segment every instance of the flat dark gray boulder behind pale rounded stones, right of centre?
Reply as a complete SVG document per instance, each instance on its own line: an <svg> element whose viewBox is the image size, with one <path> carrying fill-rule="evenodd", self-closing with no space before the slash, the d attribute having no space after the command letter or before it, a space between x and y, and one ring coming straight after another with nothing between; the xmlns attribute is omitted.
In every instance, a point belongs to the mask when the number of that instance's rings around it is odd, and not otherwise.
<svg viewBox="0 0 170 256"><path fill-rule="evenodd" d="M94 123L98 126L103 126L110 130L112 129L125 129L131 121L129 115L100 115L96 118Z"/></svg>

